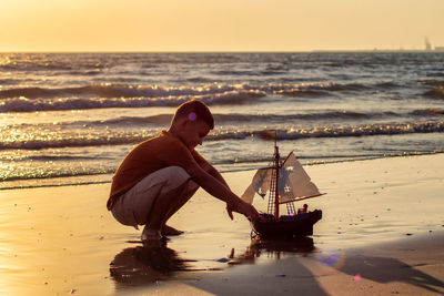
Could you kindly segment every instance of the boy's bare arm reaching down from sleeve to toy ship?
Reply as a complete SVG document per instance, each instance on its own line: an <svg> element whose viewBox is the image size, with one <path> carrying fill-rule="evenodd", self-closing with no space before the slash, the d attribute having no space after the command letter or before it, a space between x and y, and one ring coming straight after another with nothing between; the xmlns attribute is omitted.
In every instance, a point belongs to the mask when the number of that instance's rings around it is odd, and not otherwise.
<svg viewBox="0 0 444 296"><path fill-rule="evenodd" d="M259 217L258 211L251 204L239 198L213 166L209 167L209 172L206 172L200 165L193 165L188 170L188 173L204 191L225 202L232 211L241 213L252 220Z"/></svg>

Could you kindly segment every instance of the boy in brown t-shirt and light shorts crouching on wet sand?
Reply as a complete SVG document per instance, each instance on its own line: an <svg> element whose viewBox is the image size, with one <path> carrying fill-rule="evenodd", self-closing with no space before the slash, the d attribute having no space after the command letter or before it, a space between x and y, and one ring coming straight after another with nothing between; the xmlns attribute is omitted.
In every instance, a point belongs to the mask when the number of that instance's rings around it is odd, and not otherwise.
<svg viewBox="0 0 444 296"><path fill-rule="evenodd" d="M182 232L167 225L201 186L251 220L256 210L239 198L222 175L195 150L214 127L209 108L196 100L181 104L168 131L135 146L115 172L107 207L123 225L145 225L142 241Z"/></svg>

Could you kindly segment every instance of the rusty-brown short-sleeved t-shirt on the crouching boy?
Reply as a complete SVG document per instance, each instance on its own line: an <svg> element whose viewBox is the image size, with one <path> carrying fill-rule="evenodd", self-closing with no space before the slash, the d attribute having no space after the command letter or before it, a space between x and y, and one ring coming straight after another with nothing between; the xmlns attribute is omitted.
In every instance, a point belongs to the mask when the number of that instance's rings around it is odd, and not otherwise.
<svg viewBox="0 0 444 296"><path fill-rule="evenodd" d="M115 172L107 207L111 210L115 201L149 174L168 166L180 166L188 171L205 160L195 151L190 151L179 139L167 131L137 145Z"/></svg>

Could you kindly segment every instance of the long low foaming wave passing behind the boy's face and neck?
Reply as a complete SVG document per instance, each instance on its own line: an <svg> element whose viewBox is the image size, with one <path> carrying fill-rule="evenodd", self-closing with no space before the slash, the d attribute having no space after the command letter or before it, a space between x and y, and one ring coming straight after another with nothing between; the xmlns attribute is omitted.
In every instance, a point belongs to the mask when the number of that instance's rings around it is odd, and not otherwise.
<svg viewBox="0 0 444 296"><path fill-rule="evenodd" d="M54 139L53 135L39 136L38 139L14 139L3 141L0 150L40 150L49 147L78 147L99 145L137 144L148 137L155 135L159 129L141 132L115 132L107 130L98 134L73 134L64 139ZM319 126L312 129L278 130L278 140L300 140L310 137L346 137L346 136L372 136L372 135L395 135L410 133L434 133L444 132L444 121L417 121L404 123L373 123L350 126ZM249 137L262 140L274 140L274 131L270 130L214 130L205 141L221 140L244 140Z"/></svg>

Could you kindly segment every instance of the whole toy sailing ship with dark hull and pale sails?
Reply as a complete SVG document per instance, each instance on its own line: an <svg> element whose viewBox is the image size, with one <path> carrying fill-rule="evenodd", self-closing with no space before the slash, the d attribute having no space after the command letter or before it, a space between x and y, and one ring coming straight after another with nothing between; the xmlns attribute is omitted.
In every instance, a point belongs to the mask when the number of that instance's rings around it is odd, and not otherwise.
<svg viewBox="0 0 444 296"><path fill-rule="evenodd" d="M313 225L322 218L322 211L307 211L306 204L297 212L294 202L323 195L311 182L293 152L281 162L274 141L274 160L269 167L259 169L242 200L252 203L255 193L269 195L268 213L252 221L252 228L262 238L291 238L313 234ZM286 204L287 215L280 215L280 205Z"/></svg>

